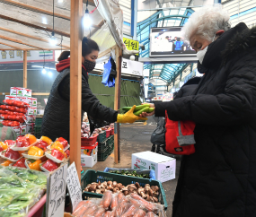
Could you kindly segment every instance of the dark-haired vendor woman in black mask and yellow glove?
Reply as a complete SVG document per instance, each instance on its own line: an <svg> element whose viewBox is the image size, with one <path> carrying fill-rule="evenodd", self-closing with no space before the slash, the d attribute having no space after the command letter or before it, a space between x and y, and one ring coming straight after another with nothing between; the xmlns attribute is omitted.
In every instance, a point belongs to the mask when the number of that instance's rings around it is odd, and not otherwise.
<svg viewBox="0 0 256 217"><path fill-rule="evenodd" d="M84 37L82 41L82 112L87 112L88 117L105 120L110 123L133 123L137 117L133 114L135 107L125 115L102 105L93 95L89 87L88 73L93 71L99 54L99 46L92 39ZM70 51L64 51L58 57L56 65L57 78L53 83L49 94L49 100L45 109L41 126L41 135L48 136L53 141L57 137L69 140L69 104L70 104ZM101 85L99 83L99 85ZM91 119L89 118L90 124ZM92 127L91 127L92 129Z"/></svg>

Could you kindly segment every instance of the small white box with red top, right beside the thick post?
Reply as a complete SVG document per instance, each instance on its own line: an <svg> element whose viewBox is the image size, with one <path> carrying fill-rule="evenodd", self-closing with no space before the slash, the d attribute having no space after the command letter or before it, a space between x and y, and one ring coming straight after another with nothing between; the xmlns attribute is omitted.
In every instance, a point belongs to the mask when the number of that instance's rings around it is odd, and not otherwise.
<svg viewBox="0 0 256 217"><path fill-rule="evenodd" d="M88 152L91 152L90 156L87 155ZM93 166L98 161L98 143L95 143L95 145L92 146L92 148L89 146L82 146L81 147L81 166L87 167L87 168L93 168Z"/></svg>

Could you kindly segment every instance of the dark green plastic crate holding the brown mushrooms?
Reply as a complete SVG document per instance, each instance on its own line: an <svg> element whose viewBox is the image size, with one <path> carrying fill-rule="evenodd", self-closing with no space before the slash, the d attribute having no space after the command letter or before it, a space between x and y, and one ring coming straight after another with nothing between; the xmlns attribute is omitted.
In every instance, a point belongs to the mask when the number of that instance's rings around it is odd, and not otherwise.
<svg viewBox="0 0 256 217"><path fill-rule="evenodd" d="M164 205L164 210L167 210L167 201L164 193L164 189L162 186L162 183L156 180L150 180L148 178L137 178L137 177L128 177L128 176L122 176L119 174L113 174L109 172L101 172L101 171L95 171L93 169L88 169L84 172L84 174L81 177L81 187L82 190L88 185L93 182L104 182L104 181L116 181L118 183L122 183L124 186L128 186L129 184L135 184L139 183L141 187L145 187L146 184L149 184L150 186L157 186L159 187L159 196L158 200L161 204ZM83 192L83 199L85 197L95 197L95 198L102 198L103 195L91 193L91 192Z"/></svg>

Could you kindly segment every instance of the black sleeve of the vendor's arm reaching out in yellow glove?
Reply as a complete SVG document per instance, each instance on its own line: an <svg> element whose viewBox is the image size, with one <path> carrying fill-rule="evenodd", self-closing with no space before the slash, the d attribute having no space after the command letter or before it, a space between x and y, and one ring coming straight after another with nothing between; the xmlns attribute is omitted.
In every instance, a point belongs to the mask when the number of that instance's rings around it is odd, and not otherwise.
<svg viewBox="0 0 256 217"><path fill-rule="evenodd" d="M59 95L65 99L70 98L70 75L60 82L58 87ZM106 120L110 123L116 122L118 117L118 111L110 109L102 105L102 103L93 95L89 84L82 80L82 109L94 119Z"/></svg>

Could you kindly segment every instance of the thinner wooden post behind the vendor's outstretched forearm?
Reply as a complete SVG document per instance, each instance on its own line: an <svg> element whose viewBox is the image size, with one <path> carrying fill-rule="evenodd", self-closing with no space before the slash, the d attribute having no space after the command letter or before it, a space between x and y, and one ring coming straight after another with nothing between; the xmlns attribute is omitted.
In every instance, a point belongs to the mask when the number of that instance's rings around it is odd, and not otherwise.
<svg viewBox="0 0 256 217"><path fill-rule="evenodd" d="M116 47L116 66L117 66L117 77L115 79L115 103L114 109L118 110L120 108L120 91L121 91L121 63L122 63L122 50L117 46ZM120 161L120 146L119 146L119 123L115 125L115 135L114 135L114 143L115 143L115 163L119 163Z"/></svg>

